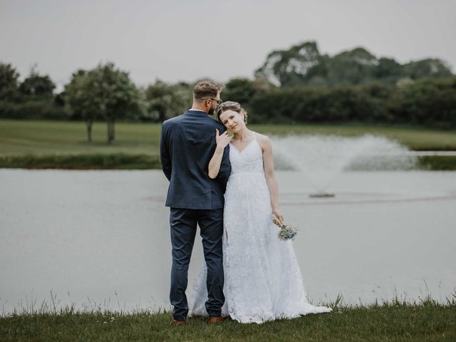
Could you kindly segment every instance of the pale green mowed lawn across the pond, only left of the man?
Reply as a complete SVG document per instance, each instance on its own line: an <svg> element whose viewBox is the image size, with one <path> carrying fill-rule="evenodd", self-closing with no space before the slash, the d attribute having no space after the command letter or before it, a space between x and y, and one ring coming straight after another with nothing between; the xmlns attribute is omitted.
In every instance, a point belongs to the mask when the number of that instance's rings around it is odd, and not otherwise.
<svg viewBox="0 0 456 342"><path fill-rule="evenodd" d="M94 123L93 142L83 122L0 120L0 156L127 153L157 155L160 125L117 123L106 143L105 123Z"/></svg>

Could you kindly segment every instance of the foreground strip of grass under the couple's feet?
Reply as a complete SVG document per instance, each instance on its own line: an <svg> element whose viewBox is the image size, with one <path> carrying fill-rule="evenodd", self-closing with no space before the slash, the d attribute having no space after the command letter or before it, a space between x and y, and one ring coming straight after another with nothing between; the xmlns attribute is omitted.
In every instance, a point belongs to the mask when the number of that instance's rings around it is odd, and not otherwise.
<svg viewBox="0 0 456 342"><path fill-rule="evenodd" d="M427 298L368 306L332 304L333 312L263 324L227 320L208 326L189 318L170 324L171 314L133 314L65 309L0 317L1 341L456 341L456 302Z"/></svg>

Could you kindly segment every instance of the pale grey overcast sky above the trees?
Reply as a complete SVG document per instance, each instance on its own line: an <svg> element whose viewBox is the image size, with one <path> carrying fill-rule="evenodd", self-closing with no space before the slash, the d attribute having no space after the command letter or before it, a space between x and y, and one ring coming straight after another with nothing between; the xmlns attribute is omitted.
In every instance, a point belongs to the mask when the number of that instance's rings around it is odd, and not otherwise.
<svg viewBox="0 0 456 342"><path fill-rule="evenodd" d="M146 85L252 77L271 51L314 40L333 55L363 46L455 72L456 0L0 0L0 62L58 89L113 61Z"/></svg>

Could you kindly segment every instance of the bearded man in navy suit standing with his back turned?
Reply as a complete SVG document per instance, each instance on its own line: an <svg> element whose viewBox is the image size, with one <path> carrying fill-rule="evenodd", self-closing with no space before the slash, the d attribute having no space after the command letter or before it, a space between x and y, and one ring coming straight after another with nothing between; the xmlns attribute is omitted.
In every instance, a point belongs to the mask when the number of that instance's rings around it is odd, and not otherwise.
<svg viewBox="0 0 456 342"><path fill-rule="evenodd" d="M224 191L231 165L229 147L225 148L216 179L209 178L207 167L215 151L216 129L224 125L209 117L220 100L221 88L201 81L193 89L190 110L166 120L160 135L162 170L170 181L166 206L170 207L172 267L170 301L172 323L185 325L188 314L187 275L193 242L199 226L204 259L207 264L206 302L209 323L222 321L224 304L222 233Z"/></svg>

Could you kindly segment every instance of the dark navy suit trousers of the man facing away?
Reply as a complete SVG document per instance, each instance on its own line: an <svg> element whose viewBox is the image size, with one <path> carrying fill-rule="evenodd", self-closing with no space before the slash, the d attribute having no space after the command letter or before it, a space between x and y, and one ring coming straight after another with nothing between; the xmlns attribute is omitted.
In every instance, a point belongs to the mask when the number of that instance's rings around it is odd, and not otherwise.
<svg viewBox="0 0 456 342"><path fill-rule="evenodd" d="M177 321L185 320L188 314L185 290L197 225L199 225L204 260L207 265L208 296L205 306L209 317L220 316L225 301L222 255L223 209L170 208L172 244L170 301L173 306L172 316Z"/></svg>

